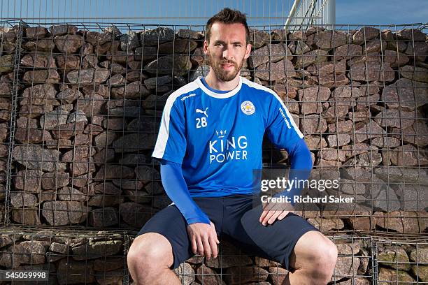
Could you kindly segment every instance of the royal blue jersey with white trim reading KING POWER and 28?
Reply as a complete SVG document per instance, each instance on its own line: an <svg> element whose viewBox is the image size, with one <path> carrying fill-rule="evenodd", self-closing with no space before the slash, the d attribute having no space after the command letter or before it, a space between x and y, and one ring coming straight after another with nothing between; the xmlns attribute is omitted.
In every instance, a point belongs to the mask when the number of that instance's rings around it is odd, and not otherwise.
<svg viewBox="0 0 428 285"><path fill-rule="evenodd" d="M271 89L240 77L215 92L197 78L167 99L152 157L180 163L192 197L252 194L265 132L278 148L303 138Z"/></svg>

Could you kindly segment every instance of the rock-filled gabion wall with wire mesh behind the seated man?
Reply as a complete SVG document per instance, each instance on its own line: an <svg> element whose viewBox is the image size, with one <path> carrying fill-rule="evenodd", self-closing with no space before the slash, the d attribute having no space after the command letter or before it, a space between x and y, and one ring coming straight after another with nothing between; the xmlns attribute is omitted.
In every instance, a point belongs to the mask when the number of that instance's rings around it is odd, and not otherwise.
<svg viewBox="0 0 428 285"><path fill-rule="evenodd" d="M150 154L166 98L208 71L203 27L10 24L0 34L1 224L134 233L169 205ZM348 186L341 196L358 201L297 214L331 236L426 234L425 31L311 27L290 34L254 27L251 41L254 49L241 75L283 99L313 154L313 177L341 177ZM287 153L266 141L263 161L287 164ZM14 242L25 242L22 237ZM10 268L7 254L17 251L10 244L0 244L0 268ZM48 242L42 245L44 254L52 251L46 251ZM394 267L376 263L373 248L340 246L345 256L332 281L352 284L358 277L359 284L369 284L376 272L390 274L385 272ZM73 247L65 255L72 256ZM354 255L367 261L356 265ZM227 265L200 267L201 258L195 258L177 270L185 284L200 284L202 272L213 273L213 284L276 284L273 276L285 275L280 265L241 253ZM404 271L426 280L426 258L418 262L417 271ZM46 257L43 263L58 268L60 261ZM401 276L392 274L392 281ZM119 282L84 280L76 283Z"/></svg>

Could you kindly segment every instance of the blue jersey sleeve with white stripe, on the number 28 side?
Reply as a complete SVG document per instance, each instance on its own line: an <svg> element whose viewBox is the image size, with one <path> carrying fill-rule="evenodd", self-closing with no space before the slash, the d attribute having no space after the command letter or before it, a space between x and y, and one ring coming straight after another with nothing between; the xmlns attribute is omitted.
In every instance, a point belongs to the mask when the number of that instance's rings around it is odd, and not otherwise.
<svg viewBox="0 0 428 285"><path fill-rule="evenodd" d="M183 163L186 153L185 116L174 103L167 101L152 157Z"/></svg>

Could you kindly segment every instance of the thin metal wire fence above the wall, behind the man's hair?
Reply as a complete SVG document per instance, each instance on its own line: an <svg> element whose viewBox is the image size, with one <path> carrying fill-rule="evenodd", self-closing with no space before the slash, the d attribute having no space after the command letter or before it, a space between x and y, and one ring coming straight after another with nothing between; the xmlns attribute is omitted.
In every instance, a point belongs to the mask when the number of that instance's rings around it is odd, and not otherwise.
<svg viewBox="0 0 428 285"><path fill-rule="evenodd" d="M311 1L317 7L319 1ZM317 3L318 2L318 3ZM324 1L328 2L328 1ZM173 3L174 5L171 5ZM304 1L307 4L308 1ZM145 22L164 24L205 24L209 17L224 7L241 10L248 16L250 24L284 25L287 19L313 17L320 22L322 6L317 15L289 15L294 1L278 0L236 0L236 1L117 1L117 0L2 0L0 17L3 20L24 20L25 22ZM307 5L306 5L307 6ZM306 8L306 6L304 6ZM302 10L302 8L300 8Z"/></svg>

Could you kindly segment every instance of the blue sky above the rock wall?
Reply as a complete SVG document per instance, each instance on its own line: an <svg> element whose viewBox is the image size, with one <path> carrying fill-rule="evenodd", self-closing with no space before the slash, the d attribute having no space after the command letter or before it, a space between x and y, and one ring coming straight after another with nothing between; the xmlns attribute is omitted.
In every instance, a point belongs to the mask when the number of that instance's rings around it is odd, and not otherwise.
<svg viewBox="0 0 428 285"><path fill-rule="evenodd" d="M294 0L0 0L0 15L1 20L34 18L27 19L26 22L203 25L208 17L229 6L249 15L250 24L279 26L285 22L284 18L293 2ZM336 0L336 24L427 22L428 0Z"/></svg>

